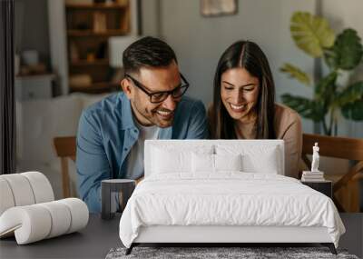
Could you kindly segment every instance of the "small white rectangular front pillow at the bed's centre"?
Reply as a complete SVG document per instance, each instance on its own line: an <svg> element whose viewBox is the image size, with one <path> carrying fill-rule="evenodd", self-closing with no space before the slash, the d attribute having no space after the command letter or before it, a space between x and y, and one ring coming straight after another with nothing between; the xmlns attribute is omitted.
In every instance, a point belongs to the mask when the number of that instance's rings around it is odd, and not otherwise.
<svg viewBox="0 0 363 259"><path fill-rule="evenodd" d="M241 170L240 154L191 154L191 171L193 173Z"/></svg>

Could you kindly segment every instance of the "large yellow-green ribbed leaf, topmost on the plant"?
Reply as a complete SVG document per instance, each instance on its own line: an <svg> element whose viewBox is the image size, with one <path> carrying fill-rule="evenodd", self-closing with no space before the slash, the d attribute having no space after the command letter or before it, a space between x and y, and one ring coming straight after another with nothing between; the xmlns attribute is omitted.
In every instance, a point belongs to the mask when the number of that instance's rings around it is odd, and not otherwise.
<svg viewBox="0 0 363 259"><path fill-rule="evenodd" d="M304 12L292 15L290 32L295 44L313 57L322 56L323 48L331 47L335 40L326 19Z"/></svg>

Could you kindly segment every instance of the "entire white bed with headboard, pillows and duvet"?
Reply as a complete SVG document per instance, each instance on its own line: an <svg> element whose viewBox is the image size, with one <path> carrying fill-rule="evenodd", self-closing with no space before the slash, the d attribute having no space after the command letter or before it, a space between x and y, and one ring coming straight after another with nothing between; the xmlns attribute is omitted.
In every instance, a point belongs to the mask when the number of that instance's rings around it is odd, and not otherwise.
<svg viewBox="0 0 363 259"><path fill-rule="evenodd" d="M344 234L324 194L284 174L281 140L154 140L120 238L141 243L321 243ZM249 172L249 173L246 173Z"/></svg>

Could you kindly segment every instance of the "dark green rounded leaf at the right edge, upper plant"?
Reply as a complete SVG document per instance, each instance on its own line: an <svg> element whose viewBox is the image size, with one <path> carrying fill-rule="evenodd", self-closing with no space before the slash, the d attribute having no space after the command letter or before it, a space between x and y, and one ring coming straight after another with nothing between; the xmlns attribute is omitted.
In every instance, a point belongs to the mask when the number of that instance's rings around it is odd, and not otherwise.
<svg viewBox="0 0 363 259"><path fill-rule="evenodd" d="M333 69L350 70L359 65L363 55L363 46L357 32L345 29L337 36L334 45L324 52L327 65Z"/></svg>

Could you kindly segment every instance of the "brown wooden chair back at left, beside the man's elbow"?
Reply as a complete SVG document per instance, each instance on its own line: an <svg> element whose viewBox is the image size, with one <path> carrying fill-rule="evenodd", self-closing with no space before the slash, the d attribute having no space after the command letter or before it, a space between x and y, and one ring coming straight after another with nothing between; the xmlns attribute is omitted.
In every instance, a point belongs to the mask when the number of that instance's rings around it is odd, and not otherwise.
<svg viewBox="0 0 363 259"><path fill-rule="evenodd" d="M62 187L64 198L70 197L68 161L70 158L75 162L76 142L75 136L54 137L54 147L57 156L61 158L62 165Z"/></svg>

